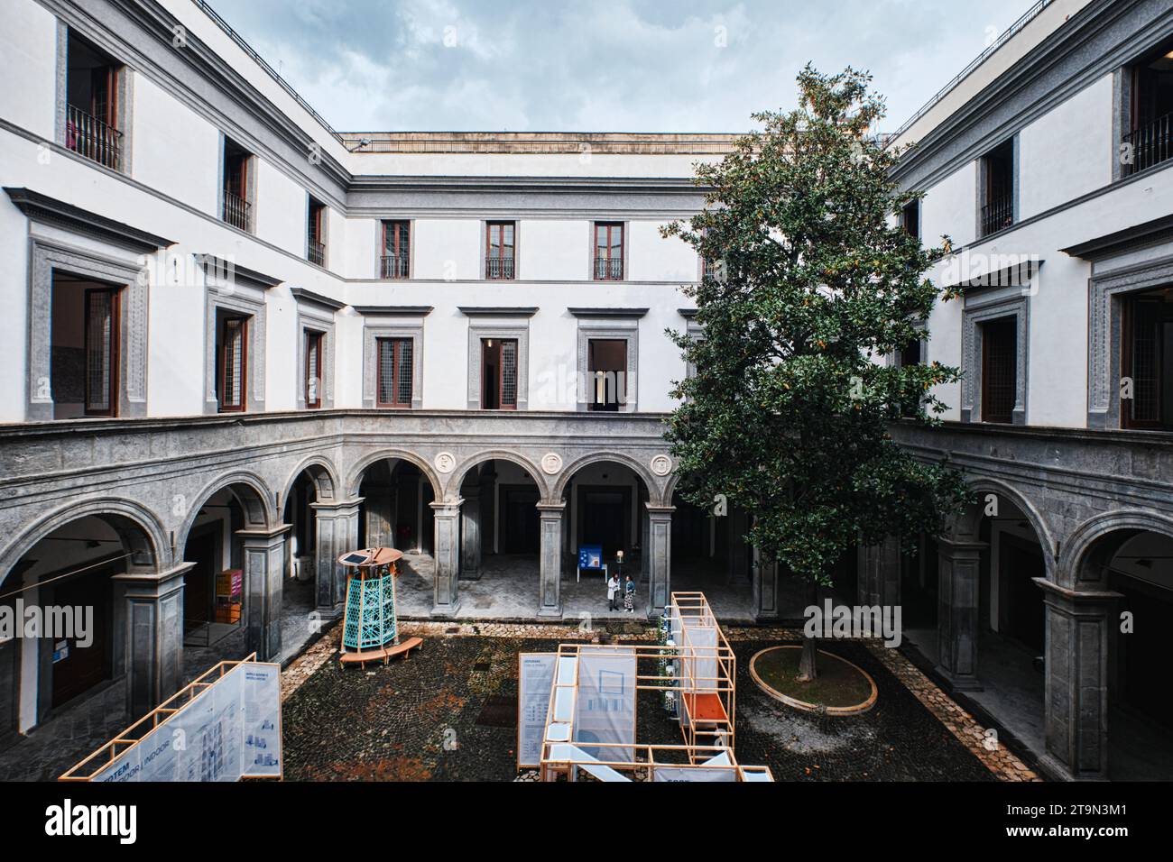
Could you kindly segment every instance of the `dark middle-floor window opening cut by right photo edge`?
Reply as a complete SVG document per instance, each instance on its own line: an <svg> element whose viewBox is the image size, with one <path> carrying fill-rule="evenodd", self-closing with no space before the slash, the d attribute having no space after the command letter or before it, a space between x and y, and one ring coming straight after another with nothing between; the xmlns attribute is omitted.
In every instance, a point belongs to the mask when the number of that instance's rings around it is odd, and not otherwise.
<svg viewBox="0 0 1173 862"><path fill-rule="evenodd" d="M1121 342L1124 427L1173 430L1173 291L1125 299Z"/></svg>

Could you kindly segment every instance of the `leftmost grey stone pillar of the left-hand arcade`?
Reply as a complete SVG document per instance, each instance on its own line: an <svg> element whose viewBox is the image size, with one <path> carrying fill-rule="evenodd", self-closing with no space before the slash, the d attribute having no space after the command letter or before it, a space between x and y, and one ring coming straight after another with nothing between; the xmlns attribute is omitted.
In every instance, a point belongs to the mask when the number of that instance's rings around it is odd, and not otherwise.
<svg viewBox="0 0 1173 862"><path fill-rule="evenodd" d="M280 566L280 558L277 561ZM183 577L196 566L179 563L163 572L130 571L110 579L126 623L127 710L150 712L183 684Z"/></svg>

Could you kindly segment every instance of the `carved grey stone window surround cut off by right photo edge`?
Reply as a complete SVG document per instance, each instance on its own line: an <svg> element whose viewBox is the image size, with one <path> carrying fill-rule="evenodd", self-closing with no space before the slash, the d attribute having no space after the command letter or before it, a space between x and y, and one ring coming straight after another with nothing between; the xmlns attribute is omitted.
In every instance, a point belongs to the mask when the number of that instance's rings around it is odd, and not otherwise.
<svg viewBox="0 0 1173 862"><path fill-rule="evenodd" d="M1087 290L1087 427L1118 429L1123 300L1173 284L1173 256L1103 273L1099 269L1100 264L1093 264Z"/></svg>

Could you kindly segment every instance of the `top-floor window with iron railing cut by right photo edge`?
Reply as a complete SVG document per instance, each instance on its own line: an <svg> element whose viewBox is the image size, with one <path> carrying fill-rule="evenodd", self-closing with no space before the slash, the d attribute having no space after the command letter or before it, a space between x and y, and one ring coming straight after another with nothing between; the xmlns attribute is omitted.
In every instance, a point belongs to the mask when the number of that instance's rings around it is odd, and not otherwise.
<svg viewBox="0 0 1173 862"><path fill-rule="evenodd" d="M1121 150L1124 175L1173 156L1173 42L1132 66L1130 122Z"/></svg>

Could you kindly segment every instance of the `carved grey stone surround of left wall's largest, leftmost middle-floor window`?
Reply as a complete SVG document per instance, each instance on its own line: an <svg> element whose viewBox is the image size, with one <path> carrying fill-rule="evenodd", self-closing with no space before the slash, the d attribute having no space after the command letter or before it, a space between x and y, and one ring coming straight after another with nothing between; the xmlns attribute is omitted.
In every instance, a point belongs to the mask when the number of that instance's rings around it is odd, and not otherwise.
<svg viewBox="0 0 1173 862"><path fill-rule="evenodd" d="M110 257L59 240L34 237L30 244L28 285L28 369L26 421L53 419L52 386L53 273L68 272L96 281L122 285L120 291L118 413L120 418L147 415L147 304L148 285L142 283L142 264L126 252L109 249ZM137 257L137 256L136 256Z"/></svg>

